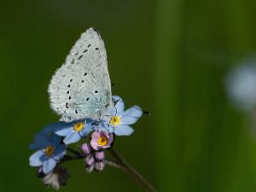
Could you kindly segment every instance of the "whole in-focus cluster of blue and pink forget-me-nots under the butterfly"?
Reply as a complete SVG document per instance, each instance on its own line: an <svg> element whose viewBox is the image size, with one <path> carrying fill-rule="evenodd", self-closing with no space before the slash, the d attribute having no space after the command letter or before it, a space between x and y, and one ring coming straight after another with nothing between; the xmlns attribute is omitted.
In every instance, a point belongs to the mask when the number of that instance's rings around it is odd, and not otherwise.
<svg viewBox="0 0 256 192"><path fill-rule="evenodd" d="M80 119L71 123L58 122L36 134L30 148L37 151L31 155L29 162L30 166L38 167L38 177L44 177L45 185L59 189L60 185L67 183L67 169L61 167L61 163L67 160L84 159L87 172L104 169L104 149L112 147L114 136L130 136L134 131L130 125L143 114L138 106L125 110L119 96L113 96L113 102L109 121ZM68 147L82 138L84 143L80 151Z"/></svg>

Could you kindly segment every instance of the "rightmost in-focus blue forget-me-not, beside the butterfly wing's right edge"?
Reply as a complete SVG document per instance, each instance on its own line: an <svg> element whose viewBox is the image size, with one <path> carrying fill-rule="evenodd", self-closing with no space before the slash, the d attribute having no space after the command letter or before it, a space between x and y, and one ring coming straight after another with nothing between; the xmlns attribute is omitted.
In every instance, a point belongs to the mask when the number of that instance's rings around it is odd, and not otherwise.
<svg viewBox="0 0 256 192"><path fill-rule="evenodd" d="M143 110L138 106L133 106L124 111L125 103L119 96L113 96L113 102L115 105L110 112L112 118L109 121L109 126L117 136L130 136L134 131L130 125L137 122L142 116ZM109 129L111 130L111 128Z"/></svg>

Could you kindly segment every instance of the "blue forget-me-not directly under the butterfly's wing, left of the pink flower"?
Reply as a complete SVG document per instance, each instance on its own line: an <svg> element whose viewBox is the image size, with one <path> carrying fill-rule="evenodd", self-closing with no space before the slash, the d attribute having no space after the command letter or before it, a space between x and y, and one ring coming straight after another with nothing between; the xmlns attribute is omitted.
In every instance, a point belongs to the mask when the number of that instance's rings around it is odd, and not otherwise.
<svg viewBox="0 0 256 192"><path fill-rule="evenodd" d="M65 137L66 144L77 143L81 137L88 135L93 129L92 120L76 120L71 123L58 123L55 125L55 134Z"/></svg>

